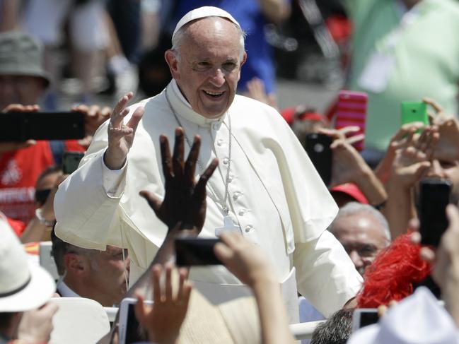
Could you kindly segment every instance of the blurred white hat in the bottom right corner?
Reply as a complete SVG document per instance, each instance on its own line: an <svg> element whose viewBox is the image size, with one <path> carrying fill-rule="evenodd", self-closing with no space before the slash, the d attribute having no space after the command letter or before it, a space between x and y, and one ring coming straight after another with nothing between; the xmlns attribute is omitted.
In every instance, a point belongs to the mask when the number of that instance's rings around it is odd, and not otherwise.
<svg viewBox="0 0 459 344"><path fill-rule="evenodd" d="M388 310L378 324L354 332L347 344L459 344L453 319L426 287Z"/></svg>

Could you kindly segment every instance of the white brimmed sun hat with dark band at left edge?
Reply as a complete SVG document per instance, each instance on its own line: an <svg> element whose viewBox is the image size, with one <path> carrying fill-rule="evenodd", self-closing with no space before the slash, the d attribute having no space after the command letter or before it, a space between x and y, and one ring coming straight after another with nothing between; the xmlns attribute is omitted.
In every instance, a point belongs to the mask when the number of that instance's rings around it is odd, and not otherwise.
<svg viewBox="0 0 459 344"><path fill-rule="evenodd" d="M24 312L45 304L56 285L27 258L18 237L0 215L0 312Z"/></svg>

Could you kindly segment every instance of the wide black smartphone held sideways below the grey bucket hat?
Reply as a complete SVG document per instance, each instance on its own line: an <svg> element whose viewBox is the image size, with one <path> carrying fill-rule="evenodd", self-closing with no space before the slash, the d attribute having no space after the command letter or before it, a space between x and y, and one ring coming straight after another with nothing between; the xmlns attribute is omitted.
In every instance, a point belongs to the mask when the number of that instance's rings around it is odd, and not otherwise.
<svg viewBox="0 0 459 344"><path fill-rule="evenodd" d="M7 112L1 114L0 141L68 140L85 136L81 112Z"/></svg>

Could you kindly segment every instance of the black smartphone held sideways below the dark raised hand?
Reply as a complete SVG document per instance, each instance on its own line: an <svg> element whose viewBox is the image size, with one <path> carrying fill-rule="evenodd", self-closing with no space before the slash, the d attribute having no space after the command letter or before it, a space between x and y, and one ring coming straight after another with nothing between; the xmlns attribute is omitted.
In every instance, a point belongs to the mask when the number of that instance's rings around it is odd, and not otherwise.
<svg viewBox="0 0 459 344"><path fill-rule="evenodd" d="M220 239L175 238L175 264L177 266L219 265L214 246Z"/></svg>

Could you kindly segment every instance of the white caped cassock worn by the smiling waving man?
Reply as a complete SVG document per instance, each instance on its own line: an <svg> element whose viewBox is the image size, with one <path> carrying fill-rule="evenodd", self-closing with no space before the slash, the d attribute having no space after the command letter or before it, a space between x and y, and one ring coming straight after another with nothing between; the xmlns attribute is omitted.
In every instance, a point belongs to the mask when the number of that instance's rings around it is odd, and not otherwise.
<svg viewBox="0 0 459 344"><path fill-rule="evenodd" d="M337 213L335 201L275 109L236 95L223 117L207 119L192 110L175 81L156 97L132 105L131 114L139 106L145 107L145 114L122 170L110 171L103 163L108 146L105 123L95 134L79 170L59 186L54 210L60 238L86 248L105 249L110 244L129 249L130 283L139 278L167 230L139 191L149 190L163 197L159 136L168 136L172 146L178 121L190 141L194 135L201 136L202 167L219 158L219 167L211 177L217 193L208 185L207 217L199 235L215 237L215 229L223 226L221 198L228 168L230 116L230 215L243 236L266 251L279 281L284 282L288 307L297 303L295 283L293 288L291 285L294 268L298 291L324 315L356 295L361 277L341 244L325 230ZM189 150L185 143L185 153ZM197 174L201 172L197 167ZM223 266L192 268L190 279L198 289L204 285L207 296L214 291L228 298L233 297L233 290L242 290L238 288L240 281Z"/></svg>

